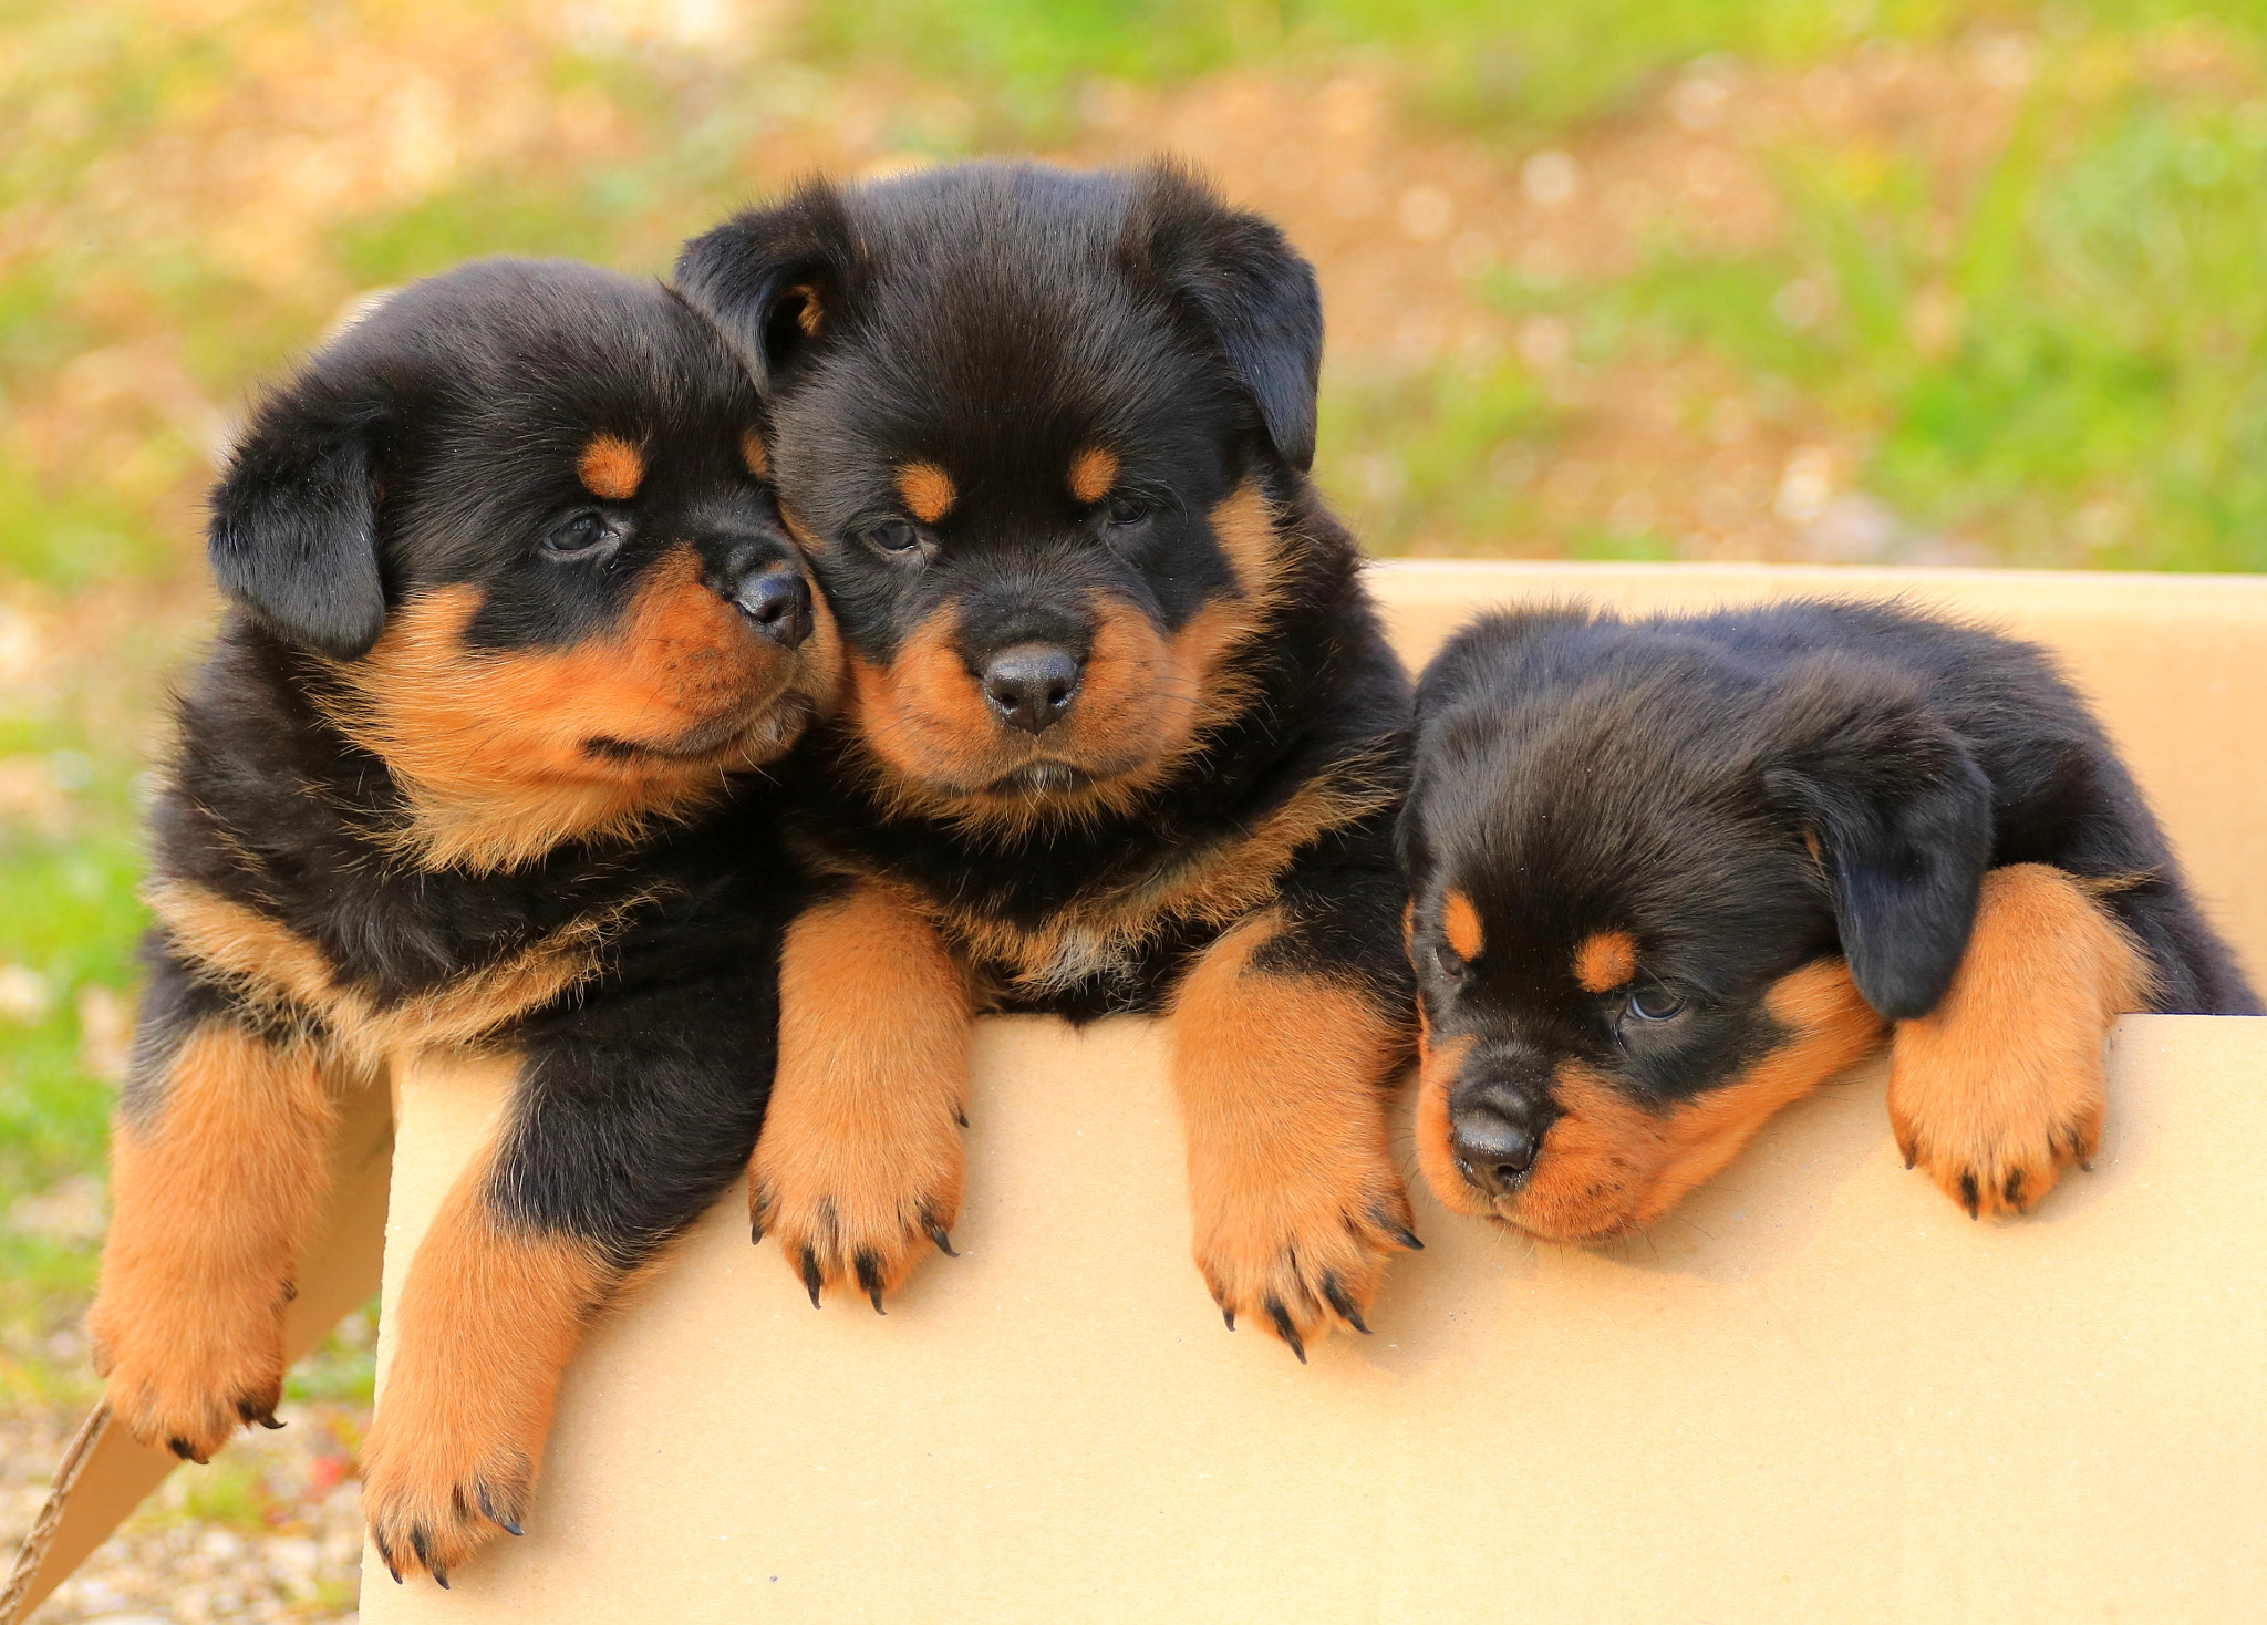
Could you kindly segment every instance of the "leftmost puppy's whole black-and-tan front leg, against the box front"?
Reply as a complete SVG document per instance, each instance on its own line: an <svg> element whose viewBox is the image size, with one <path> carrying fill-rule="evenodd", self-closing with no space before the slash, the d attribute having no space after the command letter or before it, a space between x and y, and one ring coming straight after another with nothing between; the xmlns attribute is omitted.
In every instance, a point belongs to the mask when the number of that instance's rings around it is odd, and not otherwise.
<svg viewBox="0 0 2267 1625"><path fill-rule="evenodd" d="M748 1165L771 988L671 988L519 1031L496 1142L417 1247L363 1448L363 1514L399 1577L528 1518L583 1328Z"/></svg>

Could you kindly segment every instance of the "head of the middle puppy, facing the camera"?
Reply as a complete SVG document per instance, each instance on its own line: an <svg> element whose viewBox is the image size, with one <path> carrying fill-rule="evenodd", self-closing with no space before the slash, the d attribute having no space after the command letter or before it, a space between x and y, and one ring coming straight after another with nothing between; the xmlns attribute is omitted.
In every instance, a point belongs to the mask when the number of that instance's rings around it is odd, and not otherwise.
<svg viewBox="0 0 2267 1625"><path fill-rule="evenodd" d="M961 165L741 215L678 286L766 383L893 798L1122 811L1249 698L1322 354L1274 227L1170 168Z"/></svg>

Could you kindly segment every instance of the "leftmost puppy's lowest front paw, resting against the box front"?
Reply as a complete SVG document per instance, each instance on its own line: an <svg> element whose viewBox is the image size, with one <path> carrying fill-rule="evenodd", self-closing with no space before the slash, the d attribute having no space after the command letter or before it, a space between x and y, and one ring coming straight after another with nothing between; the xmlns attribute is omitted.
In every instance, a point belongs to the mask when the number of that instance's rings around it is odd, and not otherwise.
<svg viewBox="0 0 2267 1625"><path fill-rule="evenodd" d="M363 1516L385 1571L447 1586L496 1534L519 1534L540 1444L469 1407L440 1426L424 1407L381 1405L363 1444Z"/></svg>

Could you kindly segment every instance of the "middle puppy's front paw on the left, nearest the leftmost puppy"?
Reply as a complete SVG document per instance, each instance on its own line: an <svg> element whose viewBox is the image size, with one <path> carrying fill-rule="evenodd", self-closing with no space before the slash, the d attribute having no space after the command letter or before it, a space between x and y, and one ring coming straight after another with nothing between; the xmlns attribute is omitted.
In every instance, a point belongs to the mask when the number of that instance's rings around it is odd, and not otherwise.
<svg viewBox="0 0 2267 1625"><path fill-rule="evenodd" d="M954 1117L907 1113L895 1133L873 1124L771 1122L748 1169L755 1240L780 1244L812 1294L855 1283L882 1310L914 1262L936 1247L952 1253L961 1213L961 1138Z"/></svg>

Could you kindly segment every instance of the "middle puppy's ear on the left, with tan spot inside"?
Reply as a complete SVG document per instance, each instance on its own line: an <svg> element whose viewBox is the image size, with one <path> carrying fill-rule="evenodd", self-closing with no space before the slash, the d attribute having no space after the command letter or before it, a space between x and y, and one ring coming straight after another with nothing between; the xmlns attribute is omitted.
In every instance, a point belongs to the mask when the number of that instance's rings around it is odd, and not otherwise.
<svg viewBox="0 0 2267 1625"><path fill-rule="evenodd" d="M687 243L671 283L769 394L841 313L855 258L841 193L812 179Z"/></svg>

